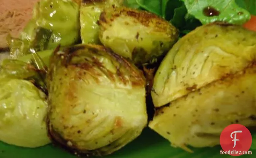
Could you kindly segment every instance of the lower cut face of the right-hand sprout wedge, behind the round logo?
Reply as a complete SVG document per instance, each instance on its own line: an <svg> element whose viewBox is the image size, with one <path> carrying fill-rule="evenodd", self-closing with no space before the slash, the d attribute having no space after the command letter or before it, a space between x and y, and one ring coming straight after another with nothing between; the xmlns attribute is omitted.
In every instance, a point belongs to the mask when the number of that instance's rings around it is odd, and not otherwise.
<svg viewBox="0 0 256 158"><path fill-rule="evenodd" d="M157 111L149 127L189 152L188 146L219 145L221 132L230 124L256 127L255 72L254 65L176 99Z"/></svg>

